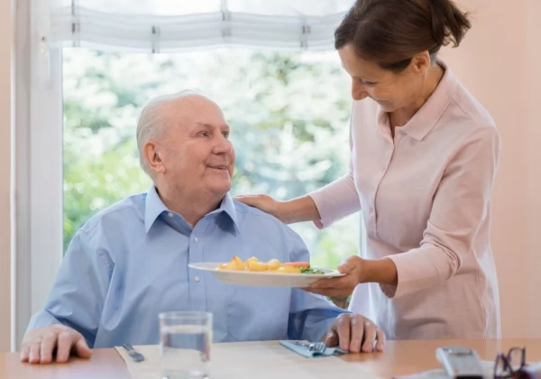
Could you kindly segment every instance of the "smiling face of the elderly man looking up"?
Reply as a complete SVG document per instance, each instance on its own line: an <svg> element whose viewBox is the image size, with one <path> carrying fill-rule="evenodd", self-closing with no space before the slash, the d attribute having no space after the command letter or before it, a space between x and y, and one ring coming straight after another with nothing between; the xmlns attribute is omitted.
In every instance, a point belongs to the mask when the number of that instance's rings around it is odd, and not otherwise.
<svg viewBox="0 0 541 379"><path fill-rule="evenodd" d="M163 106L167 133L159 143L163 180L189 197L224 197L231 189L234 148L222 110L205 97Z"/></svg>

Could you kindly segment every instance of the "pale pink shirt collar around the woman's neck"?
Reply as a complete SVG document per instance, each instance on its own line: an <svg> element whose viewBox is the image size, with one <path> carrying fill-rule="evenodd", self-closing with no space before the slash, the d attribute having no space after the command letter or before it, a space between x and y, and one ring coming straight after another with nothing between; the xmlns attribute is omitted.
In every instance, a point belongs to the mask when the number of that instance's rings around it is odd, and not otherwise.
<svg viewBox="0 0 541 379"><path fill-rule="evenodd" d="M411 120L406 125L399 126L402 132L415 138L417 141L423 140L426 134L430 133L434 126L436 126L449 105L449 101L453 97L454 89L456 88L456 79L451 69L442 60L437 60L437 63L445 69L444 76L432 95L428 97L425 104L420 107ZM381 107L378 107L378 126L384 124L389 127L388 123L389 116L381 110Z"/></svg>

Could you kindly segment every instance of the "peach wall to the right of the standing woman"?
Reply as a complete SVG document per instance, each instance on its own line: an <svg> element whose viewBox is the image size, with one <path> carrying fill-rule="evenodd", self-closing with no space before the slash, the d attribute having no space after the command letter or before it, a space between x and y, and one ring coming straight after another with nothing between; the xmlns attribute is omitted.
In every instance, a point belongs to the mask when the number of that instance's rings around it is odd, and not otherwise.
<svg viewBox="0 0 541 379"><path fill-rule="evenodd" d="M443 57L494 117L502 139L493 190L492 246L499 282L504 337L541 337L541 142L534 122L541 75L538 0L462 0L473 27L459 49ZM537 40L533 38L537 36ZM536 75L534 75L534 71ZM529 274L528 274L529 273ZM534 301L537 299L537 301Z"/></svg>

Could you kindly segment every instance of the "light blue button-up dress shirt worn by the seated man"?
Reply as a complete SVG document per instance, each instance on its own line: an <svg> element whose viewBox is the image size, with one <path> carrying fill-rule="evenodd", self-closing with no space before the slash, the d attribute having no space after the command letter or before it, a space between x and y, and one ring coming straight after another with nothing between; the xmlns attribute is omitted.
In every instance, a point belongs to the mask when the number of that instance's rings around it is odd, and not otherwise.
<svg viewBox="0 0 541 379"><path fill-rule="evenodd" d="M299 289L236 286L188 263L308 261L307 247L277 218L225 196L192 229L152 187L92 217L69 245L44 310L29 325L61 323L89 347L158 344L158 314L214 314L215 342L319 340L345 310Z"/></svg>

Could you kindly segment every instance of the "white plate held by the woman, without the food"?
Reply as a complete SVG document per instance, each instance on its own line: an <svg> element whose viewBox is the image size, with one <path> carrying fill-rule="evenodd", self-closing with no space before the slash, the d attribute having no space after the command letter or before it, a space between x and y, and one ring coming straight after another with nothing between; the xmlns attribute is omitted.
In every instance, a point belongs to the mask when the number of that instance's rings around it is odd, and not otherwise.
<svg viewBox="0 0 541 379"><path fill-rule="evenodd" d="M216 270L220 262L190 263L188 267L212 273L220 281L228 284L251 285L263 287L308 287L321 278L343 276L336 270L312 267L324 273L273 273L254 271Z"/></svg>

